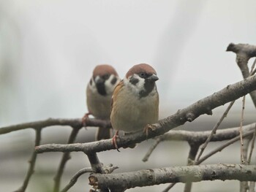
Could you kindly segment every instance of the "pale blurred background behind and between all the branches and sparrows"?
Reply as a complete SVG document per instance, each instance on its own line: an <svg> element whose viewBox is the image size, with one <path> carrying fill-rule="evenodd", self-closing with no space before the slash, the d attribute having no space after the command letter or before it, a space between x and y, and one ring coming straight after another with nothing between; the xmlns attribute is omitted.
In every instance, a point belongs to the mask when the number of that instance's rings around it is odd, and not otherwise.
<svg viewBox="0 0 256 192"><path fill-rule="evenodd" d="M113 65L121 78L135 64L154 66L159 77L160 118L172 115L242 80L236 55L225 50L230 42L256 44L255 7L254 0L2 0L0 127L46 118L81 118L87 112L86 84L97 64ZM249 62L251 66L253 61ZM180 129L210 130L226 107ZM240 99L221 128L239 126L241 108ZM247 96L244 124L252 122L255 107ZM83 128L76 142L92 141L95 130ZM45 128L42 143L65 143L70 131L69 127ZM143 163L151 142L134 150L121 149L121 153L99 153L99 159L119 166L116 172L187 164L189 147L184 142L162 143ZM0 135L0 191L15 191L23 183L33 145L34 131L30 129ZM205 164L238 163L239 153L239 145L233 145ZM61 154L38 155L27 191L53 188ZM61 188L72 174L88 166L86 155L72 153ZM70 191L89 191L88 183L88 174L83 175ZM166 186L128 191L162 191ZM183 187L178 184L174 190L182 191ZM236 181L193 185L194 191L238 188Z"/></svg>

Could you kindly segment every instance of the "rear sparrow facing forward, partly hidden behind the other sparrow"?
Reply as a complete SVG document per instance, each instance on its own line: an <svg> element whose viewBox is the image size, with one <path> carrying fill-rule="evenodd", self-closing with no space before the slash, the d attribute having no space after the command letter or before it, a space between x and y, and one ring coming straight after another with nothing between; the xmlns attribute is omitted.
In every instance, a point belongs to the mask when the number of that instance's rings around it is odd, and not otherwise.
<svg viewBox="0 0 256 192"><path fill-rule="evenodd" d="M98 65L94 68L92 77L86 88L86 103L89 114L101 120L110 120L111 97L120 78L113 66ZM110 139L111 129L99 127L96 140Z"/></svg>

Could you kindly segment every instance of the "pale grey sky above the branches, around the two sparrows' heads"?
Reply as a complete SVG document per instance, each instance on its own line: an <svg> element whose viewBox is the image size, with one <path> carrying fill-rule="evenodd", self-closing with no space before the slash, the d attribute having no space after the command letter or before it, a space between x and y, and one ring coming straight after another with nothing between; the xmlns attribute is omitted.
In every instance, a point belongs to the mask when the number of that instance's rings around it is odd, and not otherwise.
<svg viewBox="0 0 256 192"><path fill-rule="evenodd" d="M1 1L0 126L77 118L97 64L158 72L162 118L241 80L230 42L255 45L255 1ZM249 103L248 99L248 103Z"/></svg>

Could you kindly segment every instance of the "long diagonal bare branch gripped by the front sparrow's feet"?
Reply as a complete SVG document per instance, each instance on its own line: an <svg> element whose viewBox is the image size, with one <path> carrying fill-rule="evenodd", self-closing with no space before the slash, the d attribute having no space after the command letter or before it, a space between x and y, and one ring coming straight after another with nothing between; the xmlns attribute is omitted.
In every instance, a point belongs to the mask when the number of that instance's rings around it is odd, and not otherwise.
<svg viewBox="0 0 256 192"><path fill-rule="evenodd" d="M210 114L211 110L216 107L219 107L227 102L238 99L241 96L250 93L256 89L256 76L248 77L246 80L241 82L236 82L233 85L228 85L226 88L214 93L211 96L208 96L204 99L197 101L195 104L190 105L183 110L178 110L176 114L171 115L165 119L159 120L158 123L155 123L150 126L151 130L148 131L146 136L143 131L140 131L135 134L127 134L125 136L119 136L117 144L119 147L127 147L134 143L142 142L146 139L159 136L164 134L170 129L181 126L187 121L195 120L203 114ZM149 128L149 129L150 129ZM85 147L86 146L86 147ZM41 145L35 147L37 153L44 153L50 151L83 151L84 153L91 152L100 152L103 150L113 150L116 149L111 144L111 139L106 139L99 142L91 142L90 144L81 144L81 145Z"/></svg>

